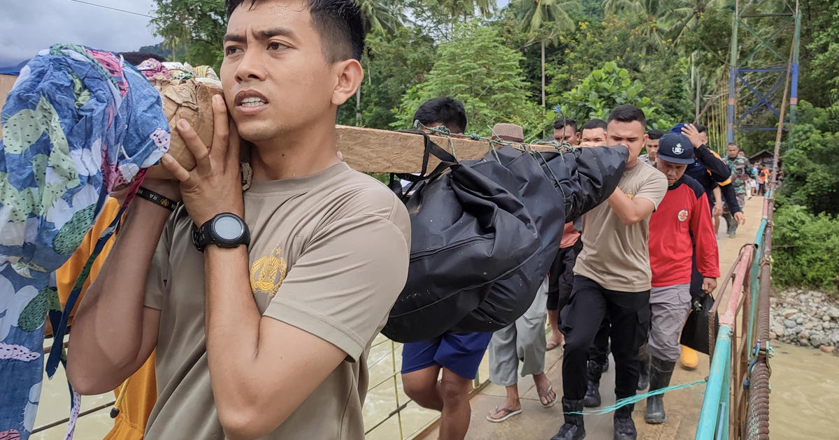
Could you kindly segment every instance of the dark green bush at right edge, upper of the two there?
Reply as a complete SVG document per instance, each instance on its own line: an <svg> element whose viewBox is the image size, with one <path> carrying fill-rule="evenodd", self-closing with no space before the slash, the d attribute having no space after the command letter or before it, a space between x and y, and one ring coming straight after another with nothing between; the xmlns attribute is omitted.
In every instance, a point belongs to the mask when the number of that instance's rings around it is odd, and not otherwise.
<svg viewBox="0 0 839 440"><path fill-rule="evenodd" d="M836 124L826 120L827 111L808 110L816 124L797 124L789 132L783 155L784 185L779 193L784 201L804 205L816 214L839 215L839 132L818 128Z"/></svg>

